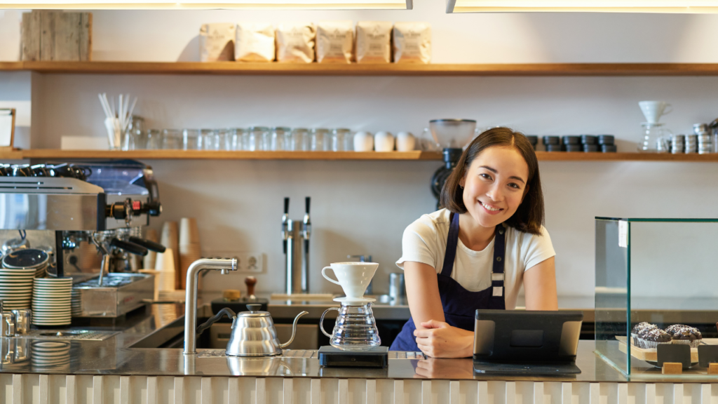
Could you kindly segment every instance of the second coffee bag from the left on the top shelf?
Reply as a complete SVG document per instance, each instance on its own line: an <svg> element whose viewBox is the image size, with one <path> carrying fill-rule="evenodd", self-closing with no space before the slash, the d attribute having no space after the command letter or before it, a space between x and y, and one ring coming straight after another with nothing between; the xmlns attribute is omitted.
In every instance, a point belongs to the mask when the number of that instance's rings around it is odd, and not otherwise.
<svg viewBox="0 0 718 404"><path fill-rule="evenodd" d="M274 27L261 22L238 23L234 57L240 62L274 60Z"/></svg>

